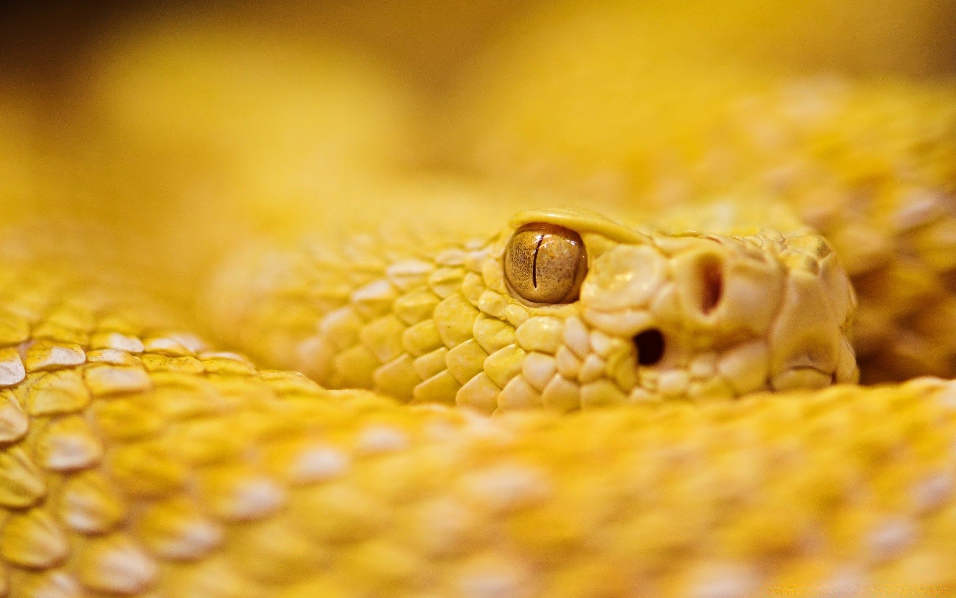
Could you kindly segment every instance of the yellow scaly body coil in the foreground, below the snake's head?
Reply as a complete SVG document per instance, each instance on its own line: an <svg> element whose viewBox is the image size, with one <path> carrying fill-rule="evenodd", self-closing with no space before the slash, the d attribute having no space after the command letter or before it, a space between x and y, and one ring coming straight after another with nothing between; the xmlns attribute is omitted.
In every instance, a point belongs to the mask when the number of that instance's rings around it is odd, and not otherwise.
<svg viewBox="0 0 956 598"><path fill-rule="evenodd" d="M64 271L0 261L0 594L956 587L943 381L489 418L257 370Z"/></svg>

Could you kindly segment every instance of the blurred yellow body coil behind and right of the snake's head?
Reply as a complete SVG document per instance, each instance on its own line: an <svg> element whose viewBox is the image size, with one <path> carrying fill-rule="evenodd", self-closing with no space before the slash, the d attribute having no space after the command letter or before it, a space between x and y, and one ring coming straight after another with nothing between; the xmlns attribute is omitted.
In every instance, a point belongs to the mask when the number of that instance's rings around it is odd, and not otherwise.
<svg viewBox="0 0 956 598"><path fill-rule="evenodd" d="M467 132L452 136L463 162L618 196L632 210L692 210L725 195L786 200L853 279L864 382L956 376L952 81L662 66L627 52L640 36L613 14L584 18L590 34L571 22L524 31L467 78ZM596 42L599 24L614 34Z"/></svg>

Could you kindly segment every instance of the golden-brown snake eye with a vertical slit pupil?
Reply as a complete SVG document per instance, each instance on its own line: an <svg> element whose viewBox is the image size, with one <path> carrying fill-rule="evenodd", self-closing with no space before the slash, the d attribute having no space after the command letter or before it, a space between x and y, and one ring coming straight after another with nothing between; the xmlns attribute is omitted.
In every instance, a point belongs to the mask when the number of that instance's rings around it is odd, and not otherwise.
<svg viewBox="0 0 956 598"><path fill-rule="evenodd" d="M511 291L529 303L576 300L587 270L581 236L553 224L526 224L505 250L505 278Z"/></svg>

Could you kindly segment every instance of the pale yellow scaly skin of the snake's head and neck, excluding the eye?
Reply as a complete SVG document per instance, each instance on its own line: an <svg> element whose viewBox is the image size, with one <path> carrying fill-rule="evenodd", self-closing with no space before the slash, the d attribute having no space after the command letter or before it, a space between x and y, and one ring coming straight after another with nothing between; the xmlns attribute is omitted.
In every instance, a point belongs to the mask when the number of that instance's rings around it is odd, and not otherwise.
<svg viewBox="0 0 956 598"><path fill-rule="evenodd" d="M502 255L531 222L580 233L579 300L528 307L511 293ZM847 336L856 299L814 234L648 235L583 210L532 210L489 240L363 249L243 255L206 313L219 336L328 388L487 412L858 377ZM638 365L634 339L655 329L663 358Z"/></svg>

